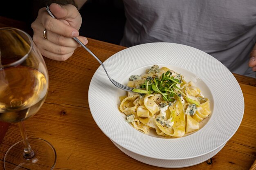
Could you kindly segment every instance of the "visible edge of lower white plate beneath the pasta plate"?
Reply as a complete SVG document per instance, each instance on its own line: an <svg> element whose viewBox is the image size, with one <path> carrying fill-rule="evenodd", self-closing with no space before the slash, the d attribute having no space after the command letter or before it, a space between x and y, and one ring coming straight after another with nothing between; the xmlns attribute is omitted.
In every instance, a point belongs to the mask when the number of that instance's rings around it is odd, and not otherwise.
<svg viewBox="0 0 256 170"><path fill-rule="evenodd" d="M164 160L164 159L154 159L154 158L149 158L149 157L144 157L144 156L138 155L136 153L130 152L129 150L119 146L114 141L112 141L112 142L113 142L113 144L115 144L115 146L117 146L117 148L119 148L122 152L124 152L129 157L132 157L133 159L136 159L137 161L146 163L148 165L159 166L162 168L183 168L183 167L197 165L197 164L207 161L208 159L215 156L225 146L225 144L224 144L224 145L220 146L220 148L214 150L213 152L210 152L210 153L200 156L200 157L195 157L195 158L191 158L191 159L181 159L181 160Z"/></svg>

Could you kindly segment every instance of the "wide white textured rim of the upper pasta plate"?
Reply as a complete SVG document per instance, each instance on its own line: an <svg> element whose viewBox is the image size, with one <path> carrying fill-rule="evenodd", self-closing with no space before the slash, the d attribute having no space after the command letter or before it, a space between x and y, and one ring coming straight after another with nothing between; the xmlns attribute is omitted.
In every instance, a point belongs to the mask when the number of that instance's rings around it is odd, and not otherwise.
<svg viewBox="0 0 256 170"><path fill-rule="evenodd" d="M203 51L167 42L132 46L104 62L109 75L118 82L132 71L153 64L184 68L207 84L214 99L210 120L187 137L163 139L145 135L124 121L117 100L118 89L100 66L90 82L88 102L92 117L103 133L119 146L155 159L191 159L224 145L240 126L244 113L243 93L234 75Z"/></svg>

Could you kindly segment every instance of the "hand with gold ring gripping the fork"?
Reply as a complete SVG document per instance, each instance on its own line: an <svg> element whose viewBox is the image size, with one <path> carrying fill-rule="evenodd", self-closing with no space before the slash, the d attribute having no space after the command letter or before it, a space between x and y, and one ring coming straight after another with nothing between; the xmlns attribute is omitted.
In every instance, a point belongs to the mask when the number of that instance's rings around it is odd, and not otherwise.
<svg viewBox="0 0 256 170"><path fill-rule="evenodd" d="M43 56L65 61L77 47L81 46L72 37L77 37L84 44L88 43L88 40L79 36L78 32L82 17L76 7L71 4L61 6L53 3L49 9L58 20L52 18L46 8L41 8L36 20L31 24L34 31L33 41ZM43 37L45 29L47 29L47 40Z"/></svg>

